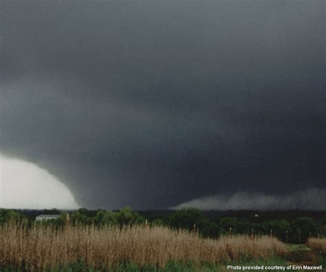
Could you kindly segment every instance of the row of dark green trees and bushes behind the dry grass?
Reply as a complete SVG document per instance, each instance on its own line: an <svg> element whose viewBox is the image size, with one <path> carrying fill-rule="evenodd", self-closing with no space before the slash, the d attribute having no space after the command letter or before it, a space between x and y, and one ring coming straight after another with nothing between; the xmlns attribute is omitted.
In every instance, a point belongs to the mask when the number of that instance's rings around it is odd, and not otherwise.
<svg viewBox="0 0 326 272"><path fill-rule="evenodd" d="M163 213L160 216L152 214L144 218L144 216L129 207L118 211L105 211L104 209L94 211L83 208L70 212L52 210L47 213L61 213L61 215L56 220L34 222L35 216L25 215L21 211L0 209L0 225L10 220L22 221L28 224L54 224L58 227L63 227L67 223L72 225L94 224L95 226L147 224L149 227L162 225L172 229L188 229L188 231L195 231L200 236L207 238L237 234L270 235L288 243L304 243L309 237L326 236L326 218L317 221L307 216L291 220L265 220L263 222L251 222L250 220L241 220L234 217L213 220L205 216L203 211L191 208ZM67 222L68 213L69 222Z"/></svg>

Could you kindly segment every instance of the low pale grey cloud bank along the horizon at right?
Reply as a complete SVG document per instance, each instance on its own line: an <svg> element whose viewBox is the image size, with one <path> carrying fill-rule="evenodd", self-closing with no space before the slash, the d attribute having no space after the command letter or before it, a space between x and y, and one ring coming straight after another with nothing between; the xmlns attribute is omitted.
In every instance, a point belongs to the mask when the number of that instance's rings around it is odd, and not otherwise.
<svg viewBox="0 0 326 272"><path fill-rule="evenodd" d="M326 207L326 189L310 188L280 196L266 193L247 193L240 191L230 196L216 195L184 202L171 209L182 208L215 210L276 210L276 209L314 209Z"/></svg>

